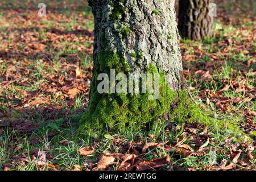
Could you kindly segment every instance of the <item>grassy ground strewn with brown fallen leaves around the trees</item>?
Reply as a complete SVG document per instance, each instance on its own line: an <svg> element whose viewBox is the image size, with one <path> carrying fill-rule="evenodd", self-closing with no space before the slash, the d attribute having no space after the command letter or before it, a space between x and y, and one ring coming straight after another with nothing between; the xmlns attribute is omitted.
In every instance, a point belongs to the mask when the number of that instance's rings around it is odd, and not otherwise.
<svg viewBox="0 0 256 182"><path fill-rule="evenodd" d="M0 2L0 169L255 170L255 1L217 1L214 36L181 40L195 100L238 122L213 134L171 122L74 142L92 78L93 16L85 1ZM231 120L233 121L233 120Z"/></svg>

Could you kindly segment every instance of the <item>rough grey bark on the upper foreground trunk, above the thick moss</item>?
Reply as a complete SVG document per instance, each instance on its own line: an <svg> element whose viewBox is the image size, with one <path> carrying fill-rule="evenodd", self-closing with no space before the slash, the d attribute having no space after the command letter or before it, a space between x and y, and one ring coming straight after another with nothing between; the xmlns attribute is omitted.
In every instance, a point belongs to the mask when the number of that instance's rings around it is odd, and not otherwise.
<svg viewBox="0 0 256 182"><path fill-rule="evenodd" d="M180 89L183 74L174 0L93 0L91 4L95 19L94 60L108 47L127 59L132 72L143 72L152 63L166 73L173 89ZM141 59L132 56L133 52Z"/></svg>

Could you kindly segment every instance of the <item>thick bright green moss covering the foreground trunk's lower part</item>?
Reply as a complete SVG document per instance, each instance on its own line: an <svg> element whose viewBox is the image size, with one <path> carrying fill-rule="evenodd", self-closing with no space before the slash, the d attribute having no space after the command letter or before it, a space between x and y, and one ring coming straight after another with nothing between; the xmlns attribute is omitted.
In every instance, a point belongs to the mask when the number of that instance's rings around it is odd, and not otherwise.
<svg viewBox="0 0 256 182"><path fill-rule="evenodd" d="M97 56L96 70L109 73L109 69L121 72L125 59L112 51L103 51ZM128 67L127 67L128 68ZM98 72L97 71L97 72ZM126 70L128 73L128 70ZM158 118L170 118L179 122L205 122L207 117L200 108L191 101L185 90L176 92L168 86L163 72L158 72L154 65L150 65L145 73L159 74L158 100L148 100L145 94L99 94L97 92L97 75L92 81L90 102L86 113L81 118L79 133L88 134L90 130L96 132L114 132L125 130L148 129ZM94 73L97 74L97 73Z"/></svg>

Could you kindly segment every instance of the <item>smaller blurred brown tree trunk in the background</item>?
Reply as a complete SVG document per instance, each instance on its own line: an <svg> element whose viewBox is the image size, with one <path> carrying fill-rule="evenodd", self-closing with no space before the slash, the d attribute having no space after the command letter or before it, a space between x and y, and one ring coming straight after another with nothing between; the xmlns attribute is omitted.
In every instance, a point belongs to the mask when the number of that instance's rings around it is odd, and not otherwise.
<svg viewBox="0 0 256 182"><path fill-rule="evenodd" d="M179 1L179 32L183 38L201 40L213 34L210 0Z"/></svg>

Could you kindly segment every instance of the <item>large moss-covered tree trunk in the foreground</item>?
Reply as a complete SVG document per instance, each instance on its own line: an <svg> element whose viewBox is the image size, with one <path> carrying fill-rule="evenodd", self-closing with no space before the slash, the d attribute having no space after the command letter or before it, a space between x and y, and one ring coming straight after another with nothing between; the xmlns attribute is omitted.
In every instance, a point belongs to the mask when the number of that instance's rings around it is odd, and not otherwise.
<svg viewBox="0 0 256 182"><path fill-rule="evenodd" d="M90 0L94 14L93 80L79 133L144 129L158 119L189 113L183 90L174 0ZM159 76L158 99L148 93L103 93L100 73L152 73ZM181 104L181 100L183 100Z"/></svg>

